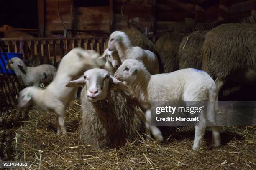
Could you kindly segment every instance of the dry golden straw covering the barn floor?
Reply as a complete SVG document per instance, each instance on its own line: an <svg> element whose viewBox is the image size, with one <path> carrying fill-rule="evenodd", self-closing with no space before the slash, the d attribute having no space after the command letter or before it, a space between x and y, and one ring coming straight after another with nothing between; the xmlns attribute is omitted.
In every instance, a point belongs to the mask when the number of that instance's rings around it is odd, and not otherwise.
<svg viewBox="0 0 256 170"><path fill-rule="evenodd" d="M9 115L24 112L11 110ZM210 131L206 144L192 150L194 130L190 127L172 128L166 143L143 137L121 148L94 150L83 144L76 133L81 111L79 102L72 102L65 119L68 135L56 135L55 115L33 108L20 126L1 126L1 159L26 160L29 169L86 169L86 170L251 170L256 168L256 127L223 127L221 148L211 148ZM23 122L21 122L21 120Z"/></svg>

